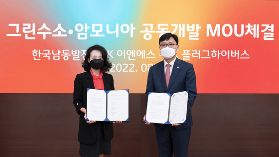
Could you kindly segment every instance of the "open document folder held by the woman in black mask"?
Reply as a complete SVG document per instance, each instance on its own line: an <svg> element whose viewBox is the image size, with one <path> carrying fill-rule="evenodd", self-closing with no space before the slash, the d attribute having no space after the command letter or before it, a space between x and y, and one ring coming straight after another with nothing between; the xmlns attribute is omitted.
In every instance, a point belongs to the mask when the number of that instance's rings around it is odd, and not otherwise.
<svg viewBox="0 0 279 157"><path fill-rule="evenodd" d="M87 121L129 121L129 90L87 89Z"/></svg>

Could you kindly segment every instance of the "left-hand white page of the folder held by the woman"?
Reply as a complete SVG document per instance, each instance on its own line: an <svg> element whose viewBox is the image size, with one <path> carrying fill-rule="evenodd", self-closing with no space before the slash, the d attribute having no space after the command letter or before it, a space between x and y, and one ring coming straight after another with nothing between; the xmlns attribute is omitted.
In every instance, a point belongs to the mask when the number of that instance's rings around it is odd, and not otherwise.
<svg viewBox="0 0 279 157"><path fill-rule="evenodd" d="M87 91L86 117L93 121L104 121L107 112L107 93L104 90Z"/></svg>

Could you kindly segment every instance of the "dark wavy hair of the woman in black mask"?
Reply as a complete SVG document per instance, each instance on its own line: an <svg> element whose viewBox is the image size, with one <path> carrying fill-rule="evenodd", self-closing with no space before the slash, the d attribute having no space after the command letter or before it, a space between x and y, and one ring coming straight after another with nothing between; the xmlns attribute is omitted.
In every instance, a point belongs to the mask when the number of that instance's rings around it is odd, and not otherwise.
<svg viewBox="0 0 279 157"><path fill-rule="evenodd" d="M86 56L85 56L84 61L82 63L82 67L83 67L84 71L90 71L90 69L91 69L91 66L90 66L90 63L88 62L88 59L90 58L90 54L93 50L101 51L102 58L105 61L104 66L102 67L102 71L103 72L109 72L109 70L112 68L112 63L109 61L109 56L108 56L107 50L100 45L94 45L94 46L91 46L87 49Z"/></svg>

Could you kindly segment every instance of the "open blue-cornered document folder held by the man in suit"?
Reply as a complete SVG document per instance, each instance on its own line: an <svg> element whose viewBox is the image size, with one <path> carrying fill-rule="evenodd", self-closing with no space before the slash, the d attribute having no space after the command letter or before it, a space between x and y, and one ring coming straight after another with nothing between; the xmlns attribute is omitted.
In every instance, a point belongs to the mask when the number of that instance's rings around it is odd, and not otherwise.
<svg viewBox="0 0 279 157"><path fill-rule="evenodd" d="M186 123L188 91L148 93L145 122L159 124Z"/></svg>

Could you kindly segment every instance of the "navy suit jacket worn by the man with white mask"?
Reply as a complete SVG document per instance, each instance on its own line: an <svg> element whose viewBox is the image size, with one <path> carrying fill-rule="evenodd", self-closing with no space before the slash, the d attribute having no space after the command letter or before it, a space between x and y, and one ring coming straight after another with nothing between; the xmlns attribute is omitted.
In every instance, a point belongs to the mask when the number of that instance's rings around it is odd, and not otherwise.
<svg viewBox="0 0 279 157"><path fill-rule="evenodd" d="M196 75L193 64L176 58L172 67L168 88L166 87L165 81L164 61L150 67L145 92L146 104L149 92L176 93L183 91L189 91L187 118L186 124L175 126L178 130L193 125L191 108L197 96ZM163 125L164 124L154 124L154 127L160 130Z"/></svg>

